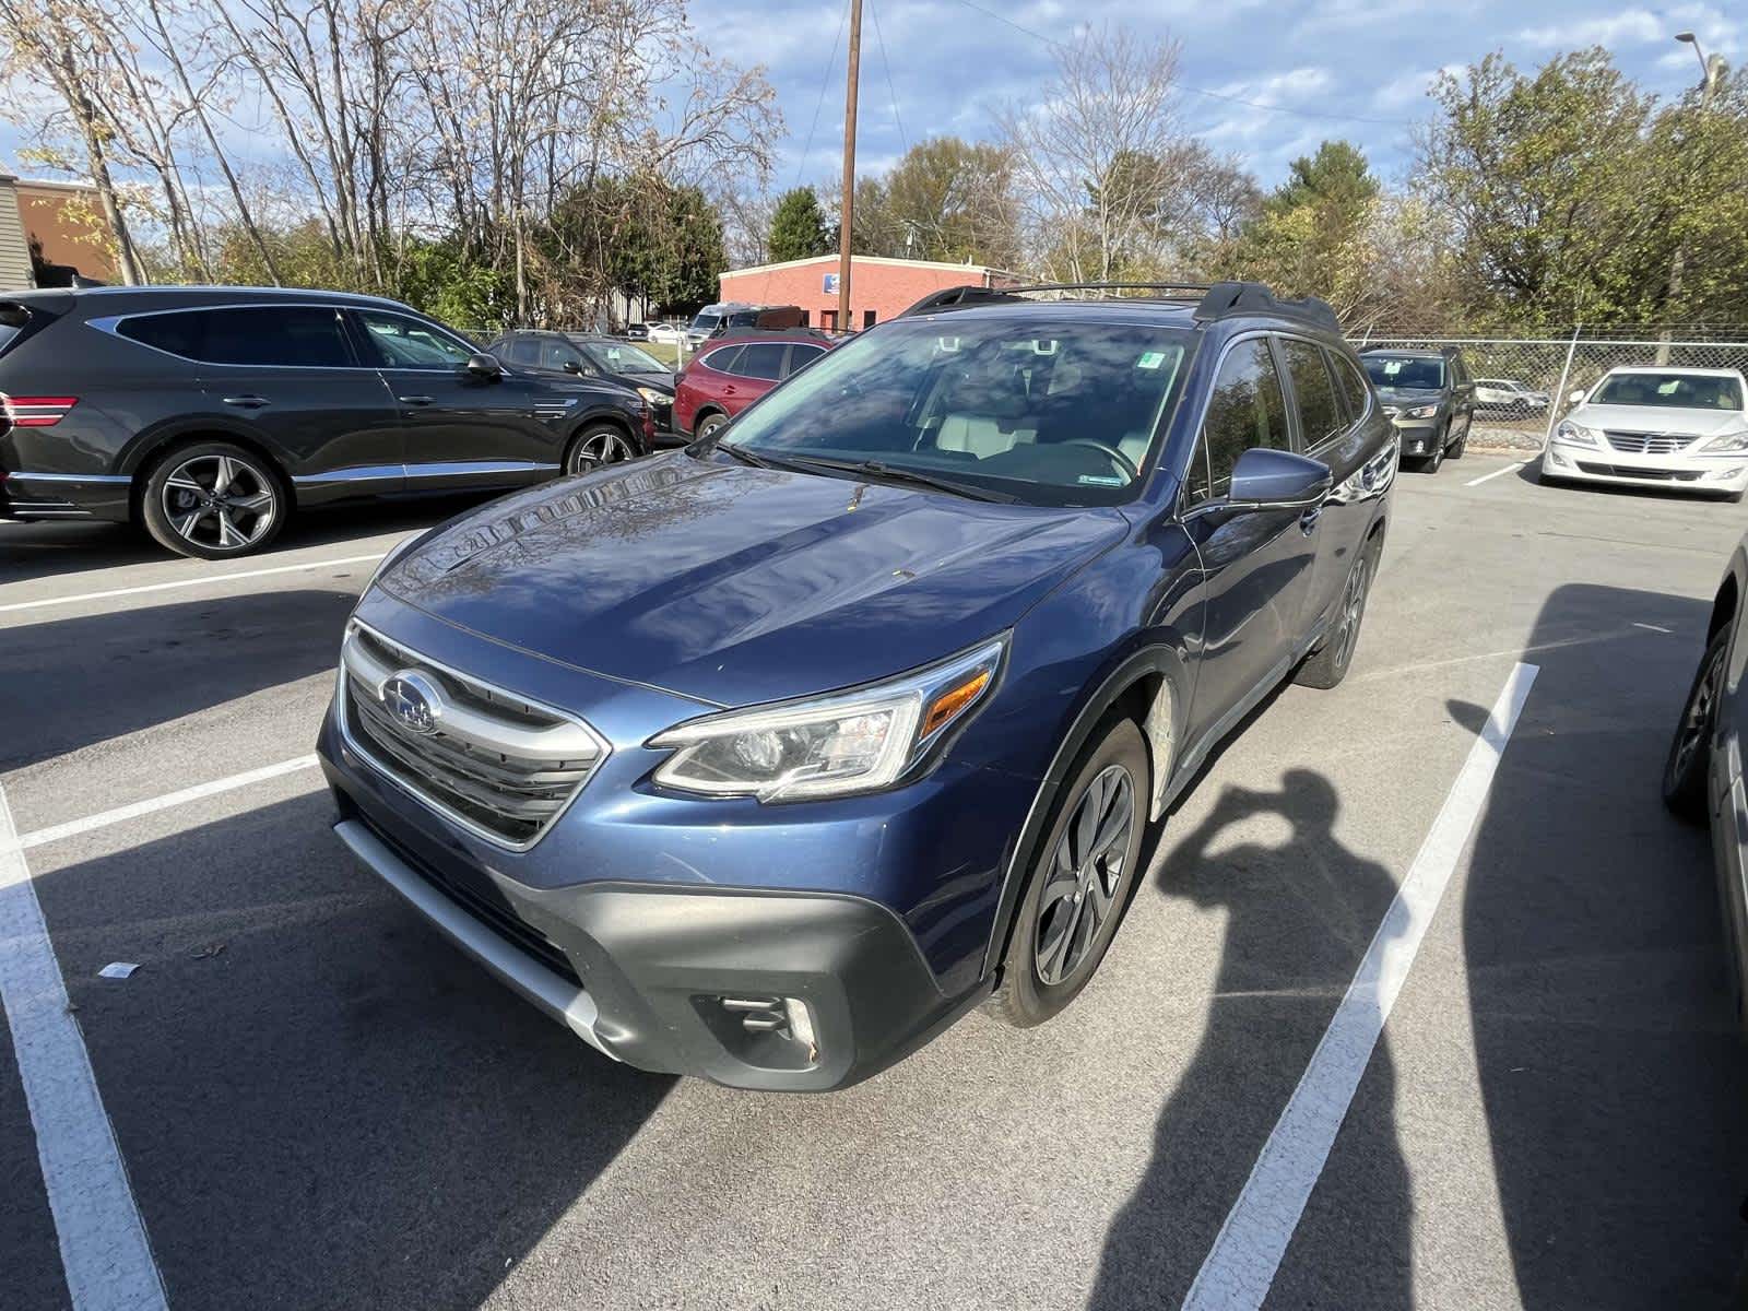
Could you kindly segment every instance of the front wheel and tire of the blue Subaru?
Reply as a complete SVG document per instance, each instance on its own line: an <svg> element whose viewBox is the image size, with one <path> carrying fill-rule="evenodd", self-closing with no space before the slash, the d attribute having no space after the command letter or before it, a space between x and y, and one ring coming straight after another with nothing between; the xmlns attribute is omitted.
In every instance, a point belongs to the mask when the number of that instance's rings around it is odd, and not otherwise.
<svg viewBox="0 0 1748 1311"><path fill-rule="evenodd" d="M1031 1028L1056 1016L1080 995L1105 960L1140 877L1141 837L1152 797L1148 778L1147 743L1127 718L1113 720L1096 734L1070 771L1026 871L1014 933L1002 958L1002 982L988 1003L1009 1024ZM1110 790L1094 794L1094 783ZM1110 837L1101 848L1096 839L1103 837L1106 822L1115 822L1124 788L1129 804L1126 834ZM1082 802L1094 809L1091 839L1079 825ZM1070 834L1070 829L1075 832ZM1059 848L1068 853L1066 864L1056 858ZM1115 850L1122 851L1122 864L1113 871L1110 855ZM1086 853L1079 869L1077 853ZM1089 914L1092 923L1086 928Z"/></svg>

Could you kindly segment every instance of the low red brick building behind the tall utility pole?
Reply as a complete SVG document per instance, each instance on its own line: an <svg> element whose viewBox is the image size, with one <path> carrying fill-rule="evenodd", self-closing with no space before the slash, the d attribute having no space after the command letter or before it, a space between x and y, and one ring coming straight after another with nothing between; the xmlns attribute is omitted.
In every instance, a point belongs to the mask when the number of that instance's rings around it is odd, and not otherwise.
<svg viewBox="0 0 1748 1311"><path fill-rule="evenodd" d="M850 323L872 327L904 313L930 292L947 287L1017 287L1023 280L979 264L935 264L923 259L853 255ZM720 299L745 304L799 304L813 327L836 329L837 255L755 264L718 276Z"/></svg>

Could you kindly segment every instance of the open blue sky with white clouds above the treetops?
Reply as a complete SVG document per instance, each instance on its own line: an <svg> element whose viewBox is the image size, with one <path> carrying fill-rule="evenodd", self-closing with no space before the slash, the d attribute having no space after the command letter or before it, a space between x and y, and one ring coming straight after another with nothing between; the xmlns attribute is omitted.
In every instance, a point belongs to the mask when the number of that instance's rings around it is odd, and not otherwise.
<svg viewBox="0 0 1748 1311"><path fill-rule="evenodd" d="M844 42L836 42L836 59L832 47L844 9L806 0L692 7L715 54L767 66L788 122L780 191L825 182L839 168ZM1461 68L1488 51L1533 68L1601 44L1645 87L1673 96L1699 80L1699 61L1675 42L1676 31L1697 31L1732 63L1748 44L1739 0L1626 9L1594 0L864 0L860 171L890 164L923 136L991 135L995 112L1037 96L1051 73L1051 47L1038 37L1066 40L1086 23L1180 40L1183 86L1217 93L1183 94L1187 126L1239 152L1264 184L1327 136L1356 142L1386 178L1400 178L1412 163L1412 126L1430 110L1428 82L1440 66Z"/></svg>

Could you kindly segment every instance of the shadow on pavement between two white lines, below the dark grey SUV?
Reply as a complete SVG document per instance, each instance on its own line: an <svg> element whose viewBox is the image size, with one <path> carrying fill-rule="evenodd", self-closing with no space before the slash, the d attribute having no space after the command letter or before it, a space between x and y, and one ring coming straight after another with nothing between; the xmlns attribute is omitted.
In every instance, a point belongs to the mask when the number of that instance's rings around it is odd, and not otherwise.
<svg viewBox="0 0 1748 1311"><path fill-rule="evenodd" d="M367 565L334 587L149 605L0 629L0 771L334 669ZM302 755L309 739L285 743Z"/></svg>

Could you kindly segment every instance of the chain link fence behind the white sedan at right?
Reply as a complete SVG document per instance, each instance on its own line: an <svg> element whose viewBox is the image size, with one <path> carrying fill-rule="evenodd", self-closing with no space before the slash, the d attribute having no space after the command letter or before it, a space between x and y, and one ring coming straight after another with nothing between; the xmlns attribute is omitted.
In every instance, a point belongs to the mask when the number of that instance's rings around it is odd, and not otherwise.
<svg viewBox="0 0 1748 1311"><path fill-rule="evenodd" d="M1748 332L1734 341L1643 341L1605 336L1570 337L1386 337L1362 334L1355 350L1437 350L1456 346L1477 381L1474 446L1540 449L1561 416L1566 397L1589 392L1610 369L1671 365L1678 369L1741 369L1748 374ZM1510 386L1488 386L1507 383Z"/></svg>

